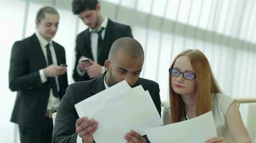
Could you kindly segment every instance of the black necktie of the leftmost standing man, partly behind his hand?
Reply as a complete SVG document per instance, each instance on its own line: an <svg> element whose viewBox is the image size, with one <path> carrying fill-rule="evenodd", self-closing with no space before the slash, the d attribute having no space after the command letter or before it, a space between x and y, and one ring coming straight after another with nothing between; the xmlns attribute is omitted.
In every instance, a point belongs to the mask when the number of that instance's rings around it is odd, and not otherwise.
<svg viewBox="0 0 256 143"><path fill-rule="evenodd" d="M50 44L47 44L46 46L46 51L47 51L47 60L48 60L48 65L52 64L52 54L50 52ZM48 81L50 81L50 86L52 87L52 94L54 97L59 97L58 89L57 89L57 84L55 81L55 77L47 77Z"/></svg>

